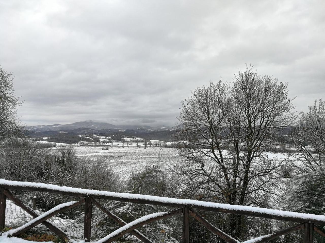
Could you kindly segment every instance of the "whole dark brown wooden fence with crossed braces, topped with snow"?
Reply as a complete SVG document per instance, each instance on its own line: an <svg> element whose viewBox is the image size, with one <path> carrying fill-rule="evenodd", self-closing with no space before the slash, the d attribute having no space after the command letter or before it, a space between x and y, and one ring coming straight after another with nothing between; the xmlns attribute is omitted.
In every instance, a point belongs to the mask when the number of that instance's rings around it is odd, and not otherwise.
<svg viewBox="0 0 325 243"><path fill-rule="evenodd" d="M226 213L226 214L247 215L253 217L270 218L270 219L299 223L298 225L283 229L279 232L274 232L266 236L245 241L246 243L265 242L275 237L289 234L300 229L304 229L305 242L307 243L313 242L314 231L316 231L322 237L325 237L325 234L317 226L315 226L315 224L324 224L325 215L303 214L303 213L295 213L289 211L281 211L281 210L250 207L250 206L202 202L202 201L189 200L189 199L176 199L176 198L158 197L158 196L132 194L132 193L97 191L97 190L57 186L57 185L44 184L44 183L10 181L5 179L0 179L0 189L1 189L0 190L0 228L5 227L6 197L11 201L13 201L14 203L16 203L17 205L21 206L22 209L24 209L27 213L31 214L34 217L32 221L25 224L24 226L8 231L6 233L8 236L18 235L18 233L23 233L26 230L30 229L32 226L42 223L50 230L52 230L55 234L57 234L59 237L67 241L69 240L69 237L66 236L65 233L59 228L57 228L56 226L49 224L46 221L46 219L68 208L72 208L74 206L85 203L84 238L86 241L90 241L92 204L97 206L100 210L102 210L104 213L106 213L109 217L114 219L117 223L119 223L122 226L120 229L114 231L110 235L99 240L98 242L100 243L112 242L118 239L119 237L122 237L126 233L131 233L136 237L138 237L143 242L150 243L151 241L147 237L142 235L140 232L138 232L136 228L144 224L147 224L149 222L160 220L162 218L165 218L167 216L172 216L175 214L183 214L183 243L189 242L189 216L194 217L208 230L210 230L212 233L216 234L217 236L221 237L226 242L229 243L239 242L236 239L232 238L231 236L227 235L225 232L211 225L200 214L197 214L195 210L212 211L212 212L219 212L219 213ZM42 214L42 216L39 216L38 214L35 214L35 212L31 208L25 206L22 203L22 201L20 201L20 199L15 197L9 191L9 189L56 193L61 195L81 197L83 199L81 199L79 202L63 203L45 212L44 214ZM127 224L126 222L118 218L116 215L110 213L102 205L100 205L95 200L96 198L120 201L120 202L131 202L131 203L142 203L142 204L151 204L151 205L161 205L167 207L176 207L178 209L171 212L155 213L155 214L143 216Z"/></svg>

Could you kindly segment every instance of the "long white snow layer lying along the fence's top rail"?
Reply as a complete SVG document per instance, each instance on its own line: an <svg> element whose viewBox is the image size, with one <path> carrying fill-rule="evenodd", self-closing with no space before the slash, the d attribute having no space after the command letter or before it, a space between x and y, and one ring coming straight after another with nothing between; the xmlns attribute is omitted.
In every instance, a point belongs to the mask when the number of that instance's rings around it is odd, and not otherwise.
<svg viewBox="0 0 325 243"><path fill-rule="evenodd" d="M84 194L84 195L108 196L108 197L116 198L116 200L118 200L118 199L147 200L147 201L159 202L159 203L172 203L172 204L179 205L179 206L188 205L188 206L219 208L219 209L226 209L226 210L238 210L238 211L246 211L246 212L248 211L251 213L268 214L268 215L281 216L281 217L296 217L296 218L301 218L301 219L305 219L305 220L317 220L317 221L325 222L325 215L294 213L294 212L281 211L281 210L276 210L276 209L230 205L230 204L224 204L224 203L202 202L202 201L191 200L191 199L177 199L177 198L158 197L158 196L133 194L133 193L97 191L97 190L90 190L90 189L57 186L57 185L44 184L44 183L11 181L11 180L6 180L6 179L0 179L0 185L43 188L43 189L57 190L57 191L62 191L62 192L80 193L80 194Z"/></svg>

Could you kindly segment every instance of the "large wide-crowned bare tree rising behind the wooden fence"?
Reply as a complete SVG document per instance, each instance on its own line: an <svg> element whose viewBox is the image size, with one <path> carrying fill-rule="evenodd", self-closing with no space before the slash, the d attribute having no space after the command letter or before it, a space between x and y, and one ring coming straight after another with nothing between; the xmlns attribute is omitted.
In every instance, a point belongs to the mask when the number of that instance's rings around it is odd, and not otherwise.
<svg viewBox="0 0 325 243"><path fill-rule="evenodd" d="M231 85L220 80L197 88L182 102L178 116L180 155L176 172L201 200L238 205L267 205L283 160L267 157L278 132L293 124L295 113L286 83L247 67ZM242 217L232 216L229 232L240 237Z"/></svg>

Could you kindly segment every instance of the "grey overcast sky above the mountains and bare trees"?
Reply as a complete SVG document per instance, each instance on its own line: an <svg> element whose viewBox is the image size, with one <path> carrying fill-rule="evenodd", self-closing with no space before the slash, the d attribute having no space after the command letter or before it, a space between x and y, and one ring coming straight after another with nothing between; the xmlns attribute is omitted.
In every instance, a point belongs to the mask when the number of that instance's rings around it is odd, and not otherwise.
<svg viewBox="0 0 325 243"><path fill-rule="evenodd" d="M190 90L245 64L325 98L325 1L0 0L0 64L27 125L172 125Z"/></svg>

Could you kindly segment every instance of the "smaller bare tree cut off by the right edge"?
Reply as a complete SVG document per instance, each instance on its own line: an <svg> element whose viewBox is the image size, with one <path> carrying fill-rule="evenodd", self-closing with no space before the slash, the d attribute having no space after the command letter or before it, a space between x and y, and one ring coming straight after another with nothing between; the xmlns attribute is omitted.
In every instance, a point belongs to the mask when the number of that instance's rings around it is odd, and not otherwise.
<svg viewBox="0 0 325 243"><path fill-rule="evenodd" d="M291 133L299 153L294 156L304 165L300 170L317 170L325 159L325 102L315 100L308 112L301 112L300 119Z"/></svg>

